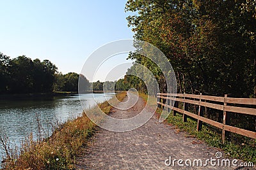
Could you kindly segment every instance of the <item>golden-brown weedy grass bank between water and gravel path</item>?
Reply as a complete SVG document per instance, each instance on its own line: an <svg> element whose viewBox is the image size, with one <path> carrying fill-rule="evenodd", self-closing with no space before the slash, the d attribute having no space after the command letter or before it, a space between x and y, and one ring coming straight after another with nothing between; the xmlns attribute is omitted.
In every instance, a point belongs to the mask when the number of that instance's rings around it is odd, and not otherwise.
<svg viewBox="0 0 256 170"><path fill-rule="evenodd" d="M116 95L119 101L126 92ZM111 101L112 100L112 101ZM111 99L112 103L118 103ZM108 102L98 104L99 108L108 114L111 106ZM88 111L95 111L97 106ZM49 138L34 140L33 134L17 148L6 139L0 137L0 142L6 146L6 159L2 162L3 169L74 169L76 155L88 138L93 135L96 125L83 113L82 117L68 120L65 124L56 125ZM40 132L40 131L39 131Z"/></svg>

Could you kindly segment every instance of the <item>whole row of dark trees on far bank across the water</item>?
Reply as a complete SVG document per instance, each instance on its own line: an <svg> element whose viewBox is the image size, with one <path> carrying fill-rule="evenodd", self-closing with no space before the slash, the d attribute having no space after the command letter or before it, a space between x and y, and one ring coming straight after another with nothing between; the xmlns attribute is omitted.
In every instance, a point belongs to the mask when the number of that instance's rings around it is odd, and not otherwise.
<svg viewBox="0 0 256 170"><path fill-rule="evenodd" d="M83 74L58 73L49 60L32 60L25 55L11 59L0 52L0 94L77 92L79 78L84 89L91 87Z"/></svg>

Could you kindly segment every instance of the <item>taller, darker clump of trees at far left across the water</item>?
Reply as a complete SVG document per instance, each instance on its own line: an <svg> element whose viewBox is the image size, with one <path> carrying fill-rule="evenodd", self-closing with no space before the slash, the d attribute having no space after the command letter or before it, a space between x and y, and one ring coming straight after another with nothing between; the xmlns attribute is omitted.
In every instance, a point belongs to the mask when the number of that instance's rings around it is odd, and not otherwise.
<svg viewBox="0 0 256 170"><path fill-rule="evenodd" d="M57 67L25 55L10 59L0 53L0 93L51 92Z"/></svg>

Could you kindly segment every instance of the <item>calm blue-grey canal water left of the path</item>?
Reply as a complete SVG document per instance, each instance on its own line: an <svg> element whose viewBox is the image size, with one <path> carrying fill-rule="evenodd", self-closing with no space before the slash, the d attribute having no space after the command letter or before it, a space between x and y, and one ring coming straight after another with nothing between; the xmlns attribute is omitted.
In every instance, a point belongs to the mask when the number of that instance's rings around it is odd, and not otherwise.
<svg viewBox="0 0 256 170"><path fill-rule="evenodd" d="M87 108L111 99L114 94L80 94ZM94 98L94 99L93 99ZM95 101L97 103L95 103ZM37 132L36 113L40 115L45 134L51 131L51 122L65 122L68 118L81 116L83 108L79 95L61 97L27 97L0 100L0 127L8 137L19 145L31 132ZM0 148L0 160L3 150Z"/></svg>

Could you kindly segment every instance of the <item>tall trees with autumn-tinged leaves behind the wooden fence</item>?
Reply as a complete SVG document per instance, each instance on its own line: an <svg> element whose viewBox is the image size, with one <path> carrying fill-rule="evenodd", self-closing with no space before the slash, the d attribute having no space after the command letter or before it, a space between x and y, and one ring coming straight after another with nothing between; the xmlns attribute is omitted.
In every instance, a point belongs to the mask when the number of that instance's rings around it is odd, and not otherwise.
<svg viewBox="0 0 256 170"><path fill-rule="evenodd" d="M177 92L255 97L253 1L129 0L125 11L132 13L127 21L134 39L157 46L172 64ZM141 46L136 48L140 50ZM150 69L161 92L166 92L163 73L151 60L136 53L130 53L129 58ZM136 67L132 69L136 71ZM140 78L127 74L122 82L147 91Z"/></svg>

